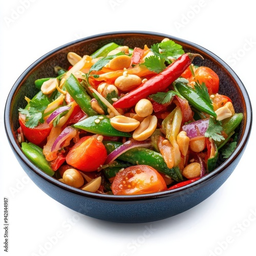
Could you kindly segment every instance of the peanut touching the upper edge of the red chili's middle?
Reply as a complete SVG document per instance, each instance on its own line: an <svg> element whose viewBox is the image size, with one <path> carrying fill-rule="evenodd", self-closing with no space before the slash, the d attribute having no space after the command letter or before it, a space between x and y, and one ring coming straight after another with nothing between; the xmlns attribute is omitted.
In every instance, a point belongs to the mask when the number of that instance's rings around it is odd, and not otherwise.
<svg viewBox="0 0 256 256"><path fill-rule="evenodd" d="M141 84L141 78L137 75L124 74L115 80L115 86L123 91L131 91Z"/></svg>

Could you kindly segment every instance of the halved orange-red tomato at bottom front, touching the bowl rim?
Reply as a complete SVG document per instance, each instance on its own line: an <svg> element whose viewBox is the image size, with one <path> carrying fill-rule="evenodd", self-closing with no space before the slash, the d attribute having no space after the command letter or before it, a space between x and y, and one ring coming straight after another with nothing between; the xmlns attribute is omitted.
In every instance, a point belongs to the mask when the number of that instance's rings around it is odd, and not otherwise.
<svg viewBox="0 0 256 256"><path fill-rule="evenodd" d="M130 166L117 173L112 183L114 195L142 195L166 190L163 177L151 166Z"/></svg>

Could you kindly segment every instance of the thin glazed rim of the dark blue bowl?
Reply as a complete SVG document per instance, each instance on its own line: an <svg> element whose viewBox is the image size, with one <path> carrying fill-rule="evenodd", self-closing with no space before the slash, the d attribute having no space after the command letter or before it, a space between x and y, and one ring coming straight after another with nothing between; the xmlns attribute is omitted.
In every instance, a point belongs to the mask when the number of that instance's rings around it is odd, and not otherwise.
<svg viewBox="0 0 256 256"><path fill-rule="evenodd" d="M244 97L245 105L246 105L246 113L244 115L244 120L245 120L245 125L244 125L244 136L241 137L240 143L237 145L236 149L233 151L233 153L230 155L229 158L225 160L220 166L218 166L215 170L213 170L211 173L205 175L204 177L200 178L199 180L184 185L179 188L175 188L172 190L165 190L157 193L152 193L152 194L143 194L143 195L132 195L132 196L115 196L115 195L105 195L105 194L96 194L96 193L91 193L88 191L84 191L79 188L75 188L72 186L69 186L65 183L62 183L61 181L47 175L45 172L43 172L41 169L39 169L37 166L35 166L22 152L20 146L16 142L14 135L12 133L11 129L11 120L10 120L10 109L11 109L11 99L14 93L16 92L16 89L18 88L20 82L24 80L24 78L35 68L39 65L39 63L42 60L45 60L51 55L57 53L58 51L61 51L65 48L68 48L72 45L76 45L80 42L89 40L89 39L96 39L98 37L106 37L106 36L115 36L115 35L121 35L121 34L135 34L135 35L152 35L152 36L159 36L159 37L168 37L174 41L180 41L183 45L188 45L190 47L194 47L199 49L200 51L204 52L205 54L209 55L212 59L215 61L219 62L221 66L231 75L231 77L236 81L238 84L240 90L242 91L242 95ZM133 30L128 30L128 31L112 31L112 32L105 32L105 33L99 33L91 36L86 36L80 39L76 39L73 41L70 41L66 44L63 44L62 46L59 46L48 53L42 55L39 57L37 60L35 60L16 80L14 83L13 87L11 88L7 100L6 100L6 105L5 105L5 116L4 116L4 125L5 125L5 131L6 135L9 141L10 146L12 147L13 152L15 152L16 156L24 162L35 174L40 176L41 178L45 179L46 181L57 185L58 187L68 190L72 193L89 197L89 198L94 198L94 199L101 199L101 200L114 200L114 201L137 201L137 200L145 200L145 199L154 199L154 198L159 198L159 197L167 197L167 196L178 196L180 195L180 192L185 191L187 189L190 189L192 187L197 187L202 185L202 183L209 181L219 174L223 173L224 170L236 159L239 157L240 153L243 152L243 149L246 147L246 144L248 142L248 138L250 136L251 132L251 126L252 126L252 107L251 107L251 102L249 95L246 91L246 88L243 84L243 82L240 80L238 75L227 65L225 61L223 61L220 57L218 57L216 54L212 53L211 51L205 49L204 47L201 47L200 45L195 44L194 42L164 34L164 33L159 33L159 32L152 32L152 31L133 31Z"/></svg>

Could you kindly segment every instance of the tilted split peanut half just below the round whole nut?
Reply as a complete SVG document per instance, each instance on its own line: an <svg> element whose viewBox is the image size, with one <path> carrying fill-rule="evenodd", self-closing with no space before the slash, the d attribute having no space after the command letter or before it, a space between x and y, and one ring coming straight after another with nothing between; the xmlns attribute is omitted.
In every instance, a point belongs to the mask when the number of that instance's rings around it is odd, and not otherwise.
<svg viewBox="0 0 256 256"><path fill-rule="evenodd" d="M157 127L157 117L147 116L133 133L133 138L138 141L149 138Z"/></svg>

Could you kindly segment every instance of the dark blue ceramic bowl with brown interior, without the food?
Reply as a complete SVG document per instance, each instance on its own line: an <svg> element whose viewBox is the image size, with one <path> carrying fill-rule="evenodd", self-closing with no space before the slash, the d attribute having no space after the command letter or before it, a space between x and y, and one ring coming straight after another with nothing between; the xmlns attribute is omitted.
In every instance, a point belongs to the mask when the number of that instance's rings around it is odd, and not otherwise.
<svg viewBox="0 0 256 256"><path fill-rule="evenodd" d="M244 115L239 126L236 150L224 162L220 162L213 172L194 183L159 193L135 196L102 195L71 187L48 176L23 154L17 140L18 109L25 107L25 95L31 98L37 92L34 87L36 79L55 76L54 66L69 67L68 52L76 52L79 55L92 54L101 46L112 41L131 48L143 48L145 44L151 46L165 37L182 45L185 52L201 54L204 60L196 58L195 65L207 66L219 75L219 92L229 96L236 112L241 112ZM12 87L6 102L4 121L8 141L19 164L30 179L47 195L80 214L96 219L121 223L143 223L169 218L198 205L227 180L245 151L251 131L252 109L242 81L214 53L193 42L166 34L117 31L69 42L37 59L20 75Z"/></svg>

